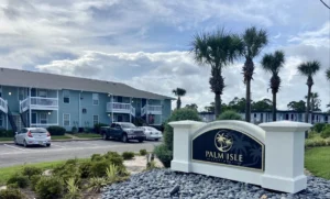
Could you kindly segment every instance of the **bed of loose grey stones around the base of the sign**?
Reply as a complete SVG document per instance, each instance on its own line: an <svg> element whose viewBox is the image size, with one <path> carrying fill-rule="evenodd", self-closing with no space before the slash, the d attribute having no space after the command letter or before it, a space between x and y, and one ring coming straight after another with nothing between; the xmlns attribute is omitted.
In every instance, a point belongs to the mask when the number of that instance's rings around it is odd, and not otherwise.
<svg viewBox="0 0 330 199"><path fill-rule="evenodd" d="M265 190L258 186L198 174L154 169L131 176L130 180L105 187L103 199L330 199L330 180L308 176L307 189L298 194ZM175 189L178 189L175 191ZM170 195L170 191L174 194Z"/></svg>

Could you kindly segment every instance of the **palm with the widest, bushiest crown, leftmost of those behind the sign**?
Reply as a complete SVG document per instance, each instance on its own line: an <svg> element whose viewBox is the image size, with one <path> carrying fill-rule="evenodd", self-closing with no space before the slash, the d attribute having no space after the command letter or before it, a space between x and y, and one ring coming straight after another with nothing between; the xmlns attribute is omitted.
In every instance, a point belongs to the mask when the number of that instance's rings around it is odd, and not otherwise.
<svg viewBox="0 0 330 199"><path fill-rule="evenodd" d="M221 95L224 89L222 70L242 55L242 40L240 36L229 34L222 29L213 33L195 35L191 46L195 60L200 65L211 66L209 84L216 96L216 117L219 117L221 113Z"/></svg>

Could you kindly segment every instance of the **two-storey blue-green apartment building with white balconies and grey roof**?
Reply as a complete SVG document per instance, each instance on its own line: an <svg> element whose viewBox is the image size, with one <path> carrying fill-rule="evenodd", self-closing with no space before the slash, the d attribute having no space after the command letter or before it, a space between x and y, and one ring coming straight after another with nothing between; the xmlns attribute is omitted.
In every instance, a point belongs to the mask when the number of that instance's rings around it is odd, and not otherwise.
<svg viewBox="0 0 330 199"><path fill-rule="evenodd" d="M161 125L174 98L121 82L0 68L0 128L134 122Z"/></svg>

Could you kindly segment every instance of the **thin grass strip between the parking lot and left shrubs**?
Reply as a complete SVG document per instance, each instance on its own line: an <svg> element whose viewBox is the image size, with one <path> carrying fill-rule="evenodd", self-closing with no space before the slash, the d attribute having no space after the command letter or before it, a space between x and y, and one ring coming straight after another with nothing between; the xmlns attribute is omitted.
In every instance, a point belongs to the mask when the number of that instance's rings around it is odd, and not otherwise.
<svg viewBox="0 0 330 199"><path fill-rule="evenodd" d="M79 162L87 161L86 158L78 159ZM0 186L6 185L7 180L14 174L19 173L23 166L35 166L42 169L52 169L58 165L64 164L66 161L56 161L56 162L48 162L48 163L35 163L35 164L26 164L20 166L12 166L12 167L3 167L0 168Z"/></svg>

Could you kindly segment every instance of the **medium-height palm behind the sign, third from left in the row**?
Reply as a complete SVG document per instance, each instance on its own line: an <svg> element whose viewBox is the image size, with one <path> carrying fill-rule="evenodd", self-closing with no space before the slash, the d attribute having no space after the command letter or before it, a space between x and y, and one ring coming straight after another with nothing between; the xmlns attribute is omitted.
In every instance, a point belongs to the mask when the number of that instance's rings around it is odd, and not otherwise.
<svg viewBox="0 0 330 199"><path fill-rule="evenodd" d="M264 70L272 74L270 86L273 93L273 121L276 121L276 93L280 87L280 77L278 73L285 63L284 53L276 51L274 54L265 54L262 59L262 67Z"/></svg>

